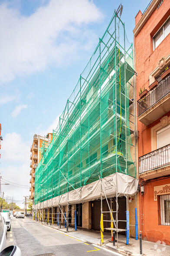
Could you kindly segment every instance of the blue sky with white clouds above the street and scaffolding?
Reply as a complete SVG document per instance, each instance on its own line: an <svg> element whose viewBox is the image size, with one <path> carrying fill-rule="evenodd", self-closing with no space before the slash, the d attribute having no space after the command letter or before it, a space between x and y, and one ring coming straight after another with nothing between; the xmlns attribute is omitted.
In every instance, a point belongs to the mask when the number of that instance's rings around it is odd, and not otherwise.
<svg viewBox="0 0 170 256"><path fill-rule="evenodd" d="M33 135L57 127L59 115L123 5L133 42L135 16L150 0L0 0L1 190L23 208L29 195ZM3 26L2 26L3 24ZM4 185L10 183L10 185Z"/></svg>

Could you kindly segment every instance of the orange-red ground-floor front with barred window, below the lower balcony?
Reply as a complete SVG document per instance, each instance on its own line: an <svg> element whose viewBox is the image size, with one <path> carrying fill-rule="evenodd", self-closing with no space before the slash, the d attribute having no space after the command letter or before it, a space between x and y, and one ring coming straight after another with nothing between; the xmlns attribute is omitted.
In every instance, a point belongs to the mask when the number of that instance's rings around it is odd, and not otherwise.
<svg viewBox="0 0 170 256"><path fill-rule="evenodd" d="M147 241L170 245L170 177L143 181L142 185L140 232Z"/></svg>

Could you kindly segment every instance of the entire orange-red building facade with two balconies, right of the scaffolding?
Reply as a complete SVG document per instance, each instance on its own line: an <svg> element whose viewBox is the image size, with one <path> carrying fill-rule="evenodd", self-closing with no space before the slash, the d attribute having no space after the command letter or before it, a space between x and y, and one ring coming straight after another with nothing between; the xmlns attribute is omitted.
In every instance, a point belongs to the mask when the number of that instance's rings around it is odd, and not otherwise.
<svg viewBox="0 0 170 256"><path fill-rule="evenodd" d="M135 17L140 232L170 245L170 1Z"/></svg>

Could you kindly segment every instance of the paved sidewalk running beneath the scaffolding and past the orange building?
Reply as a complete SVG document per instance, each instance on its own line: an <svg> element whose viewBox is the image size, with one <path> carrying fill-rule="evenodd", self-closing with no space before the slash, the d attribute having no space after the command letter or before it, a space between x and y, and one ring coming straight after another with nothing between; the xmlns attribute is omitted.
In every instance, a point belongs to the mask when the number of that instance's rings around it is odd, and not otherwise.
<svg viewBox="0 0 170 256"><path fill-rule="evenodd" d="M42 222L42 224L47 226L46 222ZM48 226L50 226L50 223ZM57 224L53 224L50 227L59 229ZM63 225L61 225L61 229L59 230L62 232L67 232ZM82 228L77 228L77 231L75 231L74 227L71 226L69 227L68 232L69 236L75 236L79 239L85 240L88 243L100 244L101 242L100 231L87 230ZM117 242L115 243L115 246L113 246L112 243L109 243L110 239L111 233L104 232L104 244L102 247L126 256L140 256L139 239L135 240L134 238L129 238L129 245L126 245L126 237L123 235L118 235L118 248L116 247ZM160 244L160 241L153 243L142 240L142 251L143 256L169 256L170 246Z"/></svg>

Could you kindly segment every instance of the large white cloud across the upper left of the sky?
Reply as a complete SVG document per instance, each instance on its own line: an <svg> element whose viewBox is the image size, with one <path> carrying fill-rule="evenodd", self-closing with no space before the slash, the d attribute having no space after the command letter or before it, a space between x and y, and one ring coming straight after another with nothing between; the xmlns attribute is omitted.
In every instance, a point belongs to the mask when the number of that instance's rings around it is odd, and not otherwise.
<svg viewBox="0 0 170 256"><path fill-rule="evenodd" d="M0 17L0 80L4 82L50 65L68 64L79 50L91 49L96 36L86 24L101 20L102 13L90 0L50 0L29 17L3 3Z"/></svg>

